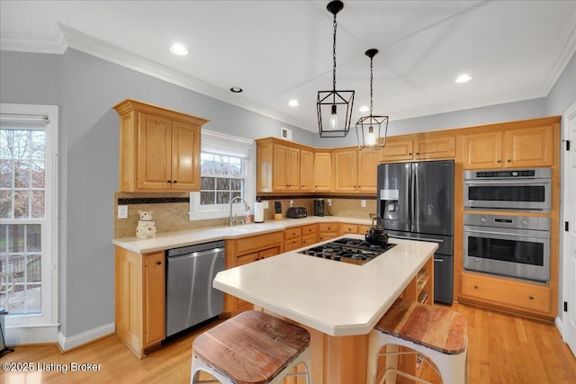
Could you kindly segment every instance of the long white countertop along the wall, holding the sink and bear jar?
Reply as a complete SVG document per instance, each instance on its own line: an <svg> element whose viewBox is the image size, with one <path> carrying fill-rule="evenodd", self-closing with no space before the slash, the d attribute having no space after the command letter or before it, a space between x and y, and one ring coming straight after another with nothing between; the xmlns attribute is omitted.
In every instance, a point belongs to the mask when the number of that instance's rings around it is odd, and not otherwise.
<svg viewBox="0 0 576 384"><path fill-rule="evenodd" d="M166 232L157 234L156 237L139 238L123 237L112 239L114 246L121 246L137 254L148 254L150 252L164 251L180 246L193 246L194 244L208 243L215 240L234 239L262 235L269 232L284 230L286 228L305 226L322 222L340 222L371 225L370 219L343 218L336 216L309 216L303 219L282 219L268 220L264 223L247 224L237 227L217 227L206 229L192 229L177 232Z"/></svg>

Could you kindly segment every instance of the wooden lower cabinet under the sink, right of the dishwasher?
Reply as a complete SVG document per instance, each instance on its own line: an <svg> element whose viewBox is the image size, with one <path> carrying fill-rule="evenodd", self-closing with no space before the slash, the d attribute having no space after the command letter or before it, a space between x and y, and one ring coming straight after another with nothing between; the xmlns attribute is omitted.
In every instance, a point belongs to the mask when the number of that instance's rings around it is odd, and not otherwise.
<svg viewBox="0 0 576 384"><path fill-rule="evenodd" d="M267 233L235 240L226 240L226 268L254 263L284 252L284 231ZM229 294L224 295L224 314L234 316L254 308L251 303Z"/></svg>

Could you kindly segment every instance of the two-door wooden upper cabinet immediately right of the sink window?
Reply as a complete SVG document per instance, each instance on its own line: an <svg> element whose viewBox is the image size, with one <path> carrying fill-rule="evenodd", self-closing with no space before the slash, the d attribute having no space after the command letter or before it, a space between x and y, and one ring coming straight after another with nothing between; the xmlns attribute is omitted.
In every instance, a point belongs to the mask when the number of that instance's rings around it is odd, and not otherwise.
<svg viewBox="0 0 576 384"><path fill-rule="evenodd" d="M257 192L311 192L310 147L277 138L257 140Z"/></svg>

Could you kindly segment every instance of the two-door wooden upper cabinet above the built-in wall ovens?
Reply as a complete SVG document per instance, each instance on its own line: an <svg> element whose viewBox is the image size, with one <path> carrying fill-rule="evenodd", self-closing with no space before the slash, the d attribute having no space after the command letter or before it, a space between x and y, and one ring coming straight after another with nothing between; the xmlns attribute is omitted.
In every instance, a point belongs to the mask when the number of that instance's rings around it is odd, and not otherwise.
<svg viewBox="0 0 576 384"><path fill-rule="evenodd" d="M464 169L553 165L554 119L519 121L463 135Z"/></svg>

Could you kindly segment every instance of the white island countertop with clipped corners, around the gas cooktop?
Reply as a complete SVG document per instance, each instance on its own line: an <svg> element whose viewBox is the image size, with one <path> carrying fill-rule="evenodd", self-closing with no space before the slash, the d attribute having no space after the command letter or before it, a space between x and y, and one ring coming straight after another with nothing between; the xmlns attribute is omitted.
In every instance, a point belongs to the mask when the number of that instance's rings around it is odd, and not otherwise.
<svg viewBox="0 0 576 384"><path fill-rule="evenodd" d="M437 250L423 241L391 243L398 246L364 265L295 250L219 272L213 286L328 335L366 335Z"/></svg>

